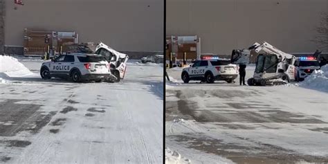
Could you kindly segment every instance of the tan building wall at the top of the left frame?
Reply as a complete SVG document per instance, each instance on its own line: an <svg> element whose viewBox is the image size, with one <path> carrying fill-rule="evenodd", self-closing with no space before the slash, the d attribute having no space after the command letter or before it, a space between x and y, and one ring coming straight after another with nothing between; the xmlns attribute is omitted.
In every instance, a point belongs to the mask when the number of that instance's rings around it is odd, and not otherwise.
<svg viewBox="0 0 328 164"><path fill-rule="evenodd" d="M6 1L5 44L22 46L24 28L75 31L79 42L119 51L163 51L163 0Z"/></svg>

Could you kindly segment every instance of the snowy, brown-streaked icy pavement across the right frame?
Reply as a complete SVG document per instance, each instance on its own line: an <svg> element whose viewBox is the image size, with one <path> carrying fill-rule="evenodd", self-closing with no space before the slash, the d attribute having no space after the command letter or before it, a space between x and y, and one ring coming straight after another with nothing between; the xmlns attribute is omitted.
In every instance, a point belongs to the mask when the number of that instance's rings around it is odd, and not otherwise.
<svg viewBox="0 0 328 164"><path fill-rule="evenodd" d="M253 69L247 69L248 78ZM179 69L167 73L175 80L166 85L165 147L179 158L188 163L328 163L326 92L239 86L238 80L181 84Z"/></svg>

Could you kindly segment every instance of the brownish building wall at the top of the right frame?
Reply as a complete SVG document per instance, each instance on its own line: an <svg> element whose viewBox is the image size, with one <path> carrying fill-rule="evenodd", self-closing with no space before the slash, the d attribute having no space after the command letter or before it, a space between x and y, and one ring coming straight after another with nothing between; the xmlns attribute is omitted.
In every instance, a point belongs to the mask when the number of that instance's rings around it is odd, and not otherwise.
<svg viewBox="0 0 328 164"><path fill-rule="evenodd" d="M167 0L167 35L198 35L201 53L266 41L287 53L327 52L311 42L328 0Z"/></svg>

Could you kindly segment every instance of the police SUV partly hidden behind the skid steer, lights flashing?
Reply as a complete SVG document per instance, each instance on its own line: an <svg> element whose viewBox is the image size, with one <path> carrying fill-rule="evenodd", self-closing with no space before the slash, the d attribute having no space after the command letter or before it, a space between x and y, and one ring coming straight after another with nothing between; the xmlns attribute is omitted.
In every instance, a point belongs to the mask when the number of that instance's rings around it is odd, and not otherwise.
<svg viewBox="0 0 328 164"><path fill-rule="evenodd" d="M314 70L320 69L318 60L314 57L298 57L295 61L295 80L300 82L307 78Z"/></svg>

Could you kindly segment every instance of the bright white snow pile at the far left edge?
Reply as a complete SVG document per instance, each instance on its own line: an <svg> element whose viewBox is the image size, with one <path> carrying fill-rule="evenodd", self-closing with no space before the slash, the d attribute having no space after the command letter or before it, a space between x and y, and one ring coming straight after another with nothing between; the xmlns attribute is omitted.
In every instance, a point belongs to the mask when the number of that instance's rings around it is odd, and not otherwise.
<svg viewBox="0 0 328 164"><path fill-rule="evenodd" d="M33 73L15 57L3 55L0 55L0 75L1 73L5 73L9 77L33 75Z"/></svg>

